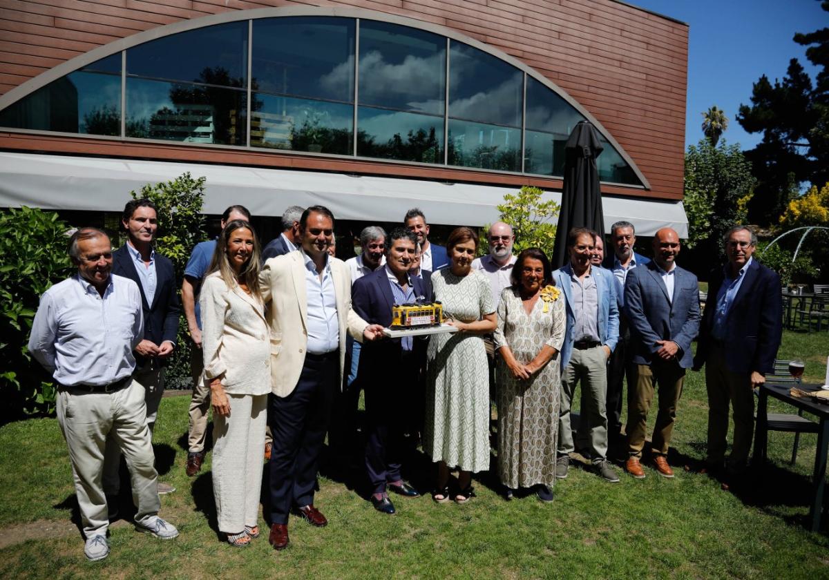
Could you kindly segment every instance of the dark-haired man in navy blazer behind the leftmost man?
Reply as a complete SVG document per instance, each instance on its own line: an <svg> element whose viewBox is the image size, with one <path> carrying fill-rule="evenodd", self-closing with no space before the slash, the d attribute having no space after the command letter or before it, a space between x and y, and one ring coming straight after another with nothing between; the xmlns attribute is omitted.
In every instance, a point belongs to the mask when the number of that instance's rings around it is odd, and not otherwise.
<svg viewBox="0 0 829 580"><path fill-rule="evenodd" d="M141 292L144 337L135 347L133 378L144 387L147 426L153 433L164 393L164 368L176 346L182 307L178 302L172 262L153 249L158 230L158 215L153 202L148 199L128 201L121 224L127 232L127 243L113 252L112 273L133 280ZM114 438L108 438L103 481L107 495L118 495L120 457L118 443ZM158 482L158 493L172 491L175 489L169 484Z"/></svg>

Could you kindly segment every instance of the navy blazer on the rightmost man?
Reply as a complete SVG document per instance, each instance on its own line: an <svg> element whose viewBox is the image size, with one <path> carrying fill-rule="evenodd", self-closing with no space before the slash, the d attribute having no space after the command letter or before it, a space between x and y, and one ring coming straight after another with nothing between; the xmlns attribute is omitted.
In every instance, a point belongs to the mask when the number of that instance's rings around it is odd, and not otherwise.
<svg viewBox="0 0 829 580"><path fill-rule="evenodd" d="M774 270L752 259L739 292L731 303L725 320L725 365L734 373L762 374L774 370L774 359L783 336L783 294L780 277ZM710 332L714 326L717 294L725 280L724 268L715 268L709 278L708 301L702 316L699 343L696 346L694 368L699 369L708 359Z"/></svg>

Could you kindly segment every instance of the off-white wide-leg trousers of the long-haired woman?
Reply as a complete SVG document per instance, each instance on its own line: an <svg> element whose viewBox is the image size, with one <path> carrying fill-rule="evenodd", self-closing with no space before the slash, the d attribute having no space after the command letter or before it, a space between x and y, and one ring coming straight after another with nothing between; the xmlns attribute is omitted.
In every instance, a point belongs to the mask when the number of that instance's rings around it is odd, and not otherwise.
<svg viewBox="0 0 829 580"><path fill-rule="evenodd" d="M230 417L213 416L213 495L219 531L255 526L262 488L268 395L228 394Z"/></svg>

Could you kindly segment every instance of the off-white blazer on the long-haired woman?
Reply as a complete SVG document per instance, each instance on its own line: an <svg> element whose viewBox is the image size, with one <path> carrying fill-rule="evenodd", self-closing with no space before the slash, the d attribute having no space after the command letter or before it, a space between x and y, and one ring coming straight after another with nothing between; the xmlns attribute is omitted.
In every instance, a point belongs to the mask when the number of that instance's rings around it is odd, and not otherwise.
<svg viewBox="0 0 829 580"><path fill-rule="evenodd" d="M201 285L201 350L205 377L222 373L228 394L270 393L270 346L264 304L218 272Z"/></svg>

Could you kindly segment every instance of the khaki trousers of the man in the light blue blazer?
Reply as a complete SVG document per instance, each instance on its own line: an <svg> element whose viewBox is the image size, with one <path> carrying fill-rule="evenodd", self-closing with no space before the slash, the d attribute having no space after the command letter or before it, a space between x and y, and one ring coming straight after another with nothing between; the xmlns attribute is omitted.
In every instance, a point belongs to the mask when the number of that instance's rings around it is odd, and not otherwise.
<svg viewBox="0 0 829 580"><path fill-rule="evenodd" d="M561 372L561 410L559 414L559 455L575 451L570 428L570 406L576 384L581 383L579 433L588 442L590 459L604 461L608 455L608 415L605 402L608 392L608 357L603 346L574 349L570 362Z"/></svg>

